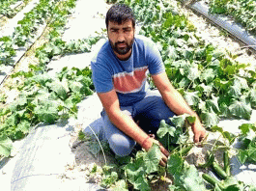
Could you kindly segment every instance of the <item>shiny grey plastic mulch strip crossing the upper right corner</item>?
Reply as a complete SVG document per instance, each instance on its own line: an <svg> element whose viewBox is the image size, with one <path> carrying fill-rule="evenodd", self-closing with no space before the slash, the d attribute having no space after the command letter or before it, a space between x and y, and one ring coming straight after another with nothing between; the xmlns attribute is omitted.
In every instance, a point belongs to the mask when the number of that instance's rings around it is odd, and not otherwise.
<svg viewBox="0 0 256 191"><path fill-rule="evenodd" d="M187 4L186 4L187 5ZM187 5L187 7L199 14L204 15L213 23L220 26L221 28L228 31L231 35L235 36L237 39L247 44L248 47L256 50L256 38L249 34L241 24L236 23L234 20L231 20L227 16L219 15L219 14L210 14L209 6L204 2L195 2Z"/></svg>

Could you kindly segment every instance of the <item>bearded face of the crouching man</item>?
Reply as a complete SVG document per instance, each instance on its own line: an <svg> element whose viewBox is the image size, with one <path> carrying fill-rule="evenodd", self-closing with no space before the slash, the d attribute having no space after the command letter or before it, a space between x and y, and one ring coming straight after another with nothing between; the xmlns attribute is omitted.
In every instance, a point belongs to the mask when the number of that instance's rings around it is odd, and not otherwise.
<svg viewBox="0 0 256 191"><path fill-rule="evenodd" d="M134 31L131 20L122 22L122 24L111 21L108 23L108 39L120 60L126 60L130 56L134 41Z"/></svg>

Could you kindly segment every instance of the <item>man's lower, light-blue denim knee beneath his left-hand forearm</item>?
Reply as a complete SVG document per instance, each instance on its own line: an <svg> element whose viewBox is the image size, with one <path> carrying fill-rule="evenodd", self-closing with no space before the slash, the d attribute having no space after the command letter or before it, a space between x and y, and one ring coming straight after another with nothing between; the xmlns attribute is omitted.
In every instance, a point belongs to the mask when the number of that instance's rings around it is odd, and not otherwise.
<svg viewBox="0 0 256 191"><path fill-rule="evenodd" d="M114 134L109 137L108 143L111 150L113 150L118 156L127 156L135 146L135 142L133 140L120 134Z"/></svg>

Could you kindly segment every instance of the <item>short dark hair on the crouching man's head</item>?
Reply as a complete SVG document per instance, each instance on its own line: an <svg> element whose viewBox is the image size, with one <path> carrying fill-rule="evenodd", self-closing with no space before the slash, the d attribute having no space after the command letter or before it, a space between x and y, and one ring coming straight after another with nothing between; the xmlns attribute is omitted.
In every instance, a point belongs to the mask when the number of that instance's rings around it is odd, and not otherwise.
<svg viewBox="0 0 256 191"><path fill-rule="evenodd" d="M115 4L106 13L106 17L105 17L106 28L108 28L109 21L122 24L123 22L128 21L128 19L132 21L132 26L134 28L135 17L131 9L125 4Z"/></svg>

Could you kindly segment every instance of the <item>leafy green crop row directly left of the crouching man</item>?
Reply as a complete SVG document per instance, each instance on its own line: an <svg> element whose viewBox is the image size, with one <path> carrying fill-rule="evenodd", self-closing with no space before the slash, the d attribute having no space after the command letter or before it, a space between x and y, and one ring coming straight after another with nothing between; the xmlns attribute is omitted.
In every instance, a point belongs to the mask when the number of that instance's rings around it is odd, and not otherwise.
<svg viewBox="0 0 256 191"><path fill-rule="evenodd" d="M51 7L51 12L48 13L50 22L47 41L35 51L39 63L30 64L29 71L18 71L12 75L14 79L23 82L17 87L19 95L13 103L0 109L1 156L8 157L13 142L26 136L33 126L75 117L76 104L85 96L93 94L94 86L89 68L63 68L55 76L49 76L47 64L54 56L89 52L92 45L100 40L100 34L78 41L63 41L64 27L71 8L75 7L75 0L59 1L58 4L48 6ZM5 98L2 95L0 99L3 104Z"/></svg>

